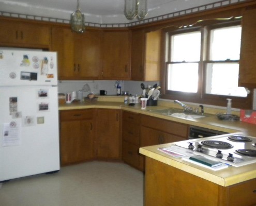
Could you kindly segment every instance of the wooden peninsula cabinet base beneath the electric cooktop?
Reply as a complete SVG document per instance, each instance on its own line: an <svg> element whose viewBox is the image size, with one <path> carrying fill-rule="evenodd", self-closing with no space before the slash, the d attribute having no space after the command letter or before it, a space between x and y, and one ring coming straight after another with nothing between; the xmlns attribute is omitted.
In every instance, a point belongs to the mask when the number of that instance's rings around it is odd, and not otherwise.
<svg viewBox="0 0 256 206"><path fill-rule="evenodd" d="M256 205L256 179L223 187L146 157L145 206Z"/></svg>

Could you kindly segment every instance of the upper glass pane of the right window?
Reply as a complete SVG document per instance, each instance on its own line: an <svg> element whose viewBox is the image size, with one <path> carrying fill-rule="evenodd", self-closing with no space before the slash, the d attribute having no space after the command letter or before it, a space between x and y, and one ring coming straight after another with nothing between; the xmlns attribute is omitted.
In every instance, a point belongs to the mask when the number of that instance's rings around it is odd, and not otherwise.
<svg viewBox="0 0 256 206"><path fill-rule="evenodd" d="M240 59L240 26L213 29L210 37L210 60Z"/></svg>

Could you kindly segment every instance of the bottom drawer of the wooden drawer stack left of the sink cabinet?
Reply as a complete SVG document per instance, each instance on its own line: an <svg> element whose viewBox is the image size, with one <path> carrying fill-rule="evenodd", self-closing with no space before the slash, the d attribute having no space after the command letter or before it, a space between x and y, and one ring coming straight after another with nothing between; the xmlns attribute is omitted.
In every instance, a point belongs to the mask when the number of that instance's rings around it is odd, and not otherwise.
<svg viewBox="0 0 256 206"><path fill-rule="evenodd" d="M124 162L139 168L140 166L139 146L135 146L133 144L123 141L122 159Z"/></svg>

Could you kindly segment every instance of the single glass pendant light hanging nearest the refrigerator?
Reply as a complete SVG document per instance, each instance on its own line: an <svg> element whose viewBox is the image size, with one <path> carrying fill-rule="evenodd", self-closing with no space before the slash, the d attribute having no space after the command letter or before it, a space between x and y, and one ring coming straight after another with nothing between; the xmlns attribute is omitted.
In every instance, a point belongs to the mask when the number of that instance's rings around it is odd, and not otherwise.
<svg viewBox="0 0 256 206"><path fill-rule="evenodd" d="M83 33L85 30L84 14L80 11L79 0L77 2L77 11L71 14L70 24L72 31L75 31L77 33Z"/></svg>

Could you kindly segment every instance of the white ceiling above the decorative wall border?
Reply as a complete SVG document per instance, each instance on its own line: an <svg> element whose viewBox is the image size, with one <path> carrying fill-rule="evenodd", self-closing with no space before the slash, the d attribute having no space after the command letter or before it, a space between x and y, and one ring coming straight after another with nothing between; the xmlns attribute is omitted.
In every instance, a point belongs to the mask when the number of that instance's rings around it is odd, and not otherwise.
<svg viewBox="0 0 256 206"><path fill-rule="evenodd" d="M172 13L220 0L148 0L146 18ZM234 0L237 1L237 0ZM244 0L240 0L244 1ZM85 22L129 23L124 16L125 0L79 0ZM77 0L0 0L0 12L10 12L69 20L77 9ZM136 20L133 20L136 21Z"/></svg>

